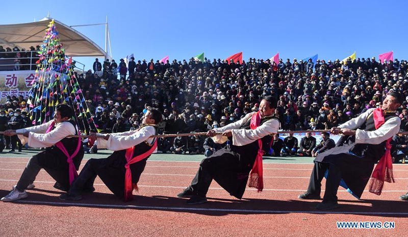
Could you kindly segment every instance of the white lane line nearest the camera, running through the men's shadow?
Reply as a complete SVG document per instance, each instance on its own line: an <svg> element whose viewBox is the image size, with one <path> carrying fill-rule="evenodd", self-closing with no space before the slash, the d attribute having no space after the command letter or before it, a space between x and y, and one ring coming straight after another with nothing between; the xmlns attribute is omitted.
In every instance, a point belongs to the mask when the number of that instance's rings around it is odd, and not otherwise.
<svg viewBox="0 0 408 237"><path fill-rule="evenodd" d="M228 213L262 213L262 214L345 214L345 215L395 215L407 216L407 212L323 212L323 211L275 211L275 210L250 210L250 209L218 209L218 208L178 208L169 206L142 206L142 205L114 205L114 204L93 204L77 202L53 202L53 201L28 201L18 200L18 203L57 205L57 206L82 206L85 208L120 208L120 209L140 209L140 210L160 210L160 211L187 211L187 212L228 212Z"/></svg>

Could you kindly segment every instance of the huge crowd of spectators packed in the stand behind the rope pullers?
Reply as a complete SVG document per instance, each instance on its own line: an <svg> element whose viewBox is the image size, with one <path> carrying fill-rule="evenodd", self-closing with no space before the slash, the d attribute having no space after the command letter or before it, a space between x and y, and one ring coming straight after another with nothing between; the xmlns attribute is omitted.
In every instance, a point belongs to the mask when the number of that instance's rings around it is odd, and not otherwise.
<svg viewBox="0 0 408 237"><path fill-rule="evenodd" d="M163 113L160 133L204 132L257 111L267 95L278 101L274 116L282 130L330 129L380 106L390 91L406 97L397 113L401 130L407 130L407 67L404 60L380 62L374 57L316 63L288 58L278 64L256 58L242 63L191 58L164 64L153 59L136 62L132 57L127 64L123 59L95 60L93 70L77 78L93 121L106 132L137 128L148 107ZM18 105L22 102L17 100ZM9 113L9 107L2 109ZM161 142L161 152L207 152L206 141L199 136Z"/></svg>

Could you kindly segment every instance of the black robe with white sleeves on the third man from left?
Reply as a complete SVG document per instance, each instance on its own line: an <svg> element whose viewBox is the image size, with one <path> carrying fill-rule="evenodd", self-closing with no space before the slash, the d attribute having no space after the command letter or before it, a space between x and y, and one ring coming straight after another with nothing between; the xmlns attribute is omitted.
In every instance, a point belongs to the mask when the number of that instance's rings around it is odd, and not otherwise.
<svg viewBox="0 0 408 237"><path fill-rule="evenodd" d="M261 118L256 129L251 129L253 114L248 113L243 119L235 123L214 129L216 132L231 129L233 136L225 148L203 159L200 163L203 167L207 166L207 170L211 172L213 179L221 187L237 198L242 198L244 194L249 172L253 168L259 152L259 142L262 141L263 137L276 133L279 128L279 121L268 116ZM217 143L226 141L225 137L221 135L216 135L213 139ZM259 165L262 168L262 160Z"/></svg>

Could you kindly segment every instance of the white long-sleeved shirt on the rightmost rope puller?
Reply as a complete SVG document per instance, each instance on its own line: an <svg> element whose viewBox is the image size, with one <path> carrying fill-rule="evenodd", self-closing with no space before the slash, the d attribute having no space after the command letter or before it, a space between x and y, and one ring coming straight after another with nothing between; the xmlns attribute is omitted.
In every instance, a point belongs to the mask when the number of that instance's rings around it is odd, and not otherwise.
<svg viewBox="0 0 408 237"><path fill-rule="evenodd" d="M398 116L392 117L386 121L381 127L374 131L364 131L358 129L362 126L368 119L368 116L372 113L374 108L368 109L366 112L362 113L360 116L355 117L347 121L346 123L339 126L339 128L348 128L355 130L355 143L366 143L366 144L379 144L387 139L391 138L398 133L399 127L401 125L401 120ZM371 115L373 116L373 115Z"/></svg>

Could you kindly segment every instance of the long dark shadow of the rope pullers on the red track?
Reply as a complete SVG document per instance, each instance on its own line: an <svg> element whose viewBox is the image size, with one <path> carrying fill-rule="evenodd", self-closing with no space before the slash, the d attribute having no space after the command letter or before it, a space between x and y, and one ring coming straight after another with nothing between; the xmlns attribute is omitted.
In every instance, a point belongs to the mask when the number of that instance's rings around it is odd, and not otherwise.
<svg viewBox="0 0 408 237"><path fill-rule="evenodd" d="M36 190L44 191L45 190ZM0 196L8 194L7 190L0 190ZM47 191L59 194L60 192ZM341 208L333 211L319 211L315 206L319 201L303 200L270 200L270 199L223 199L208 198L208 203L199 205L187 205L185 198L170 196L139 196L134 195L134 200L124 202L108 193L84 194L80 201L62 201L58 196L48 196L41 193L30 193L29 197L15 204L45 205L45 206L79 206L98 209L136 209L156 210L166 212L195 213L206 216L225 216L229 214L239 215L262 215L262 214L290 214L290 213L312 213L312 214L344 214L362 216L381 216L406 218L406 202L398 200L340 200ZM371 204L370 206L367 205ZM6 204L6 203L4 203ZM362 205L364 204L364 205ZM400 214L398 214L400 213Z"/></svg>

